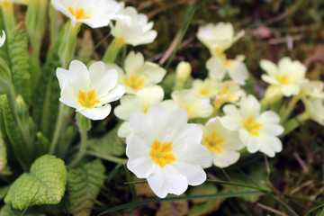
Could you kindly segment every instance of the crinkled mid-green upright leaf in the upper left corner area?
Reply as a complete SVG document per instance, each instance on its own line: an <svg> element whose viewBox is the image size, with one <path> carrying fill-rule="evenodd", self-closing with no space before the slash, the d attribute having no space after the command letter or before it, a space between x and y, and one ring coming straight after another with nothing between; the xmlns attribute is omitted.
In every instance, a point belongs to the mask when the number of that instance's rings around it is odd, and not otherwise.
<svg viewBox="0 0 324 216"><path fill-rule="evenodd" d="M24 23L19 23L8 37L8 53L12 66L12 78L18 94L31 103L30 56L28 54L28 34Z"/></svg>

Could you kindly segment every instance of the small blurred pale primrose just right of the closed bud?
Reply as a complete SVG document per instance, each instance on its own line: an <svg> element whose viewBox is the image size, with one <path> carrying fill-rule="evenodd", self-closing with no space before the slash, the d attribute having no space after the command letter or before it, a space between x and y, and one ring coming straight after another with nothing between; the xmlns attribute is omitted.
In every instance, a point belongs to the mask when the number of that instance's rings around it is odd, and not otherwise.
<svg viewBox="0 0 324 216"><path fill-rule="evenodd" d="M202 96L214 97L220 92L220 80L205 78L193 80L193 92Z"/></svg>

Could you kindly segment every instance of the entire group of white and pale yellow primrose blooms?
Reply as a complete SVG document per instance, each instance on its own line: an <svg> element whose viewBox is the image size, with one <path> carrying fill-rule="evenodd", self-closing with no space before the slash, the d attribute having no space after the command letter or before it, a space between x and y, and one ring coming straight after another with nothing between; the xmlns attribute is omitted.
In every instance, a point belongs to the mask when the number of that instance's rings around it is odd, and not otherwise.
<svg viewBox="0 0 324 216"><path fill-rule="evenodd" d="M135 8L113 0L97 2L51 0L73 25L97 28L109 24L120 44L137 46L157 37L151 30L153 23ZM290 58L281 59L278 67L261 61L267 73L262 79L269 84L262 105L255 96L246 95L240 87L248 77L244 57L228 59L225 54L243 35L240 31L234 36L230 23L201 27L197 37L211 51L206 62L209 76L193 79L190 64L180 62L170 99L165 100L164 89L158 85L166 70L130 51L121 67L96 62L88 70L75 60L68 71L58 68L60 101L90 119L102 120L111 112L109 103L121 98L114 114L123 121L118 136L126 138L127 167L139 178L147 178L159 197L184 193L188 184L205 181L202 167L230 166L238 161L242 148L275 157L283 149L278 139L284 132L282 115L263 110L283 96L299 95L307 118L324 124L324 85L305 79L306 68Z"/></svg>

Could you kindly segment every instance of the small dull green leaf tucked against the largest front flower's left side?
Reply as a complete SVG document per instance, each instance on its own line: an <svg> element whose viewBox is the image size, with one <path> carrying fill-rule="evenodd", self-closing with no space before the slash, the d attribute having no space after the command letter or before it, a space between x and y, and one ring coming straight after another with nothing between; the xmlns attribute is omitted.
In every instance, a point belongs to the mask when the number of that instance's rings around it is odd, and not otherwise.
<svg viewBox="0 0 324 216"><path fill-rule="evenodd" d="M123 141L117 136L117 125L113 130L109 131L100 139L91 139L88 141L89 148L96 152L107 155L121 156L125 153Z"/></svg>

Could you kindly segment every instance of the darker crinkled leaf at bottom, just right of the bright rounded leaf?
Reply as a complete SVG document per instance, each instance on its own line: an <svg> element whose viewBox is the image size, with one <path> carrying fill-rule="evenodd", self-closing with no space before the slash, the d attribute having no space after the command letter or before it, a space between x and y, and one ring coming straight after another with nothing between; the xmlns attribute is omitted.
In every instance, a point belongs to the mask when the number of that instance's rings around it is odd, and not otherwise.
<svg viewBox="0 0 324 216"><path fill-rule="evenodd" d="M73 215L90 215L104 182L105 167L100 159L83 162L67 173L67 191Z"/></svg>

